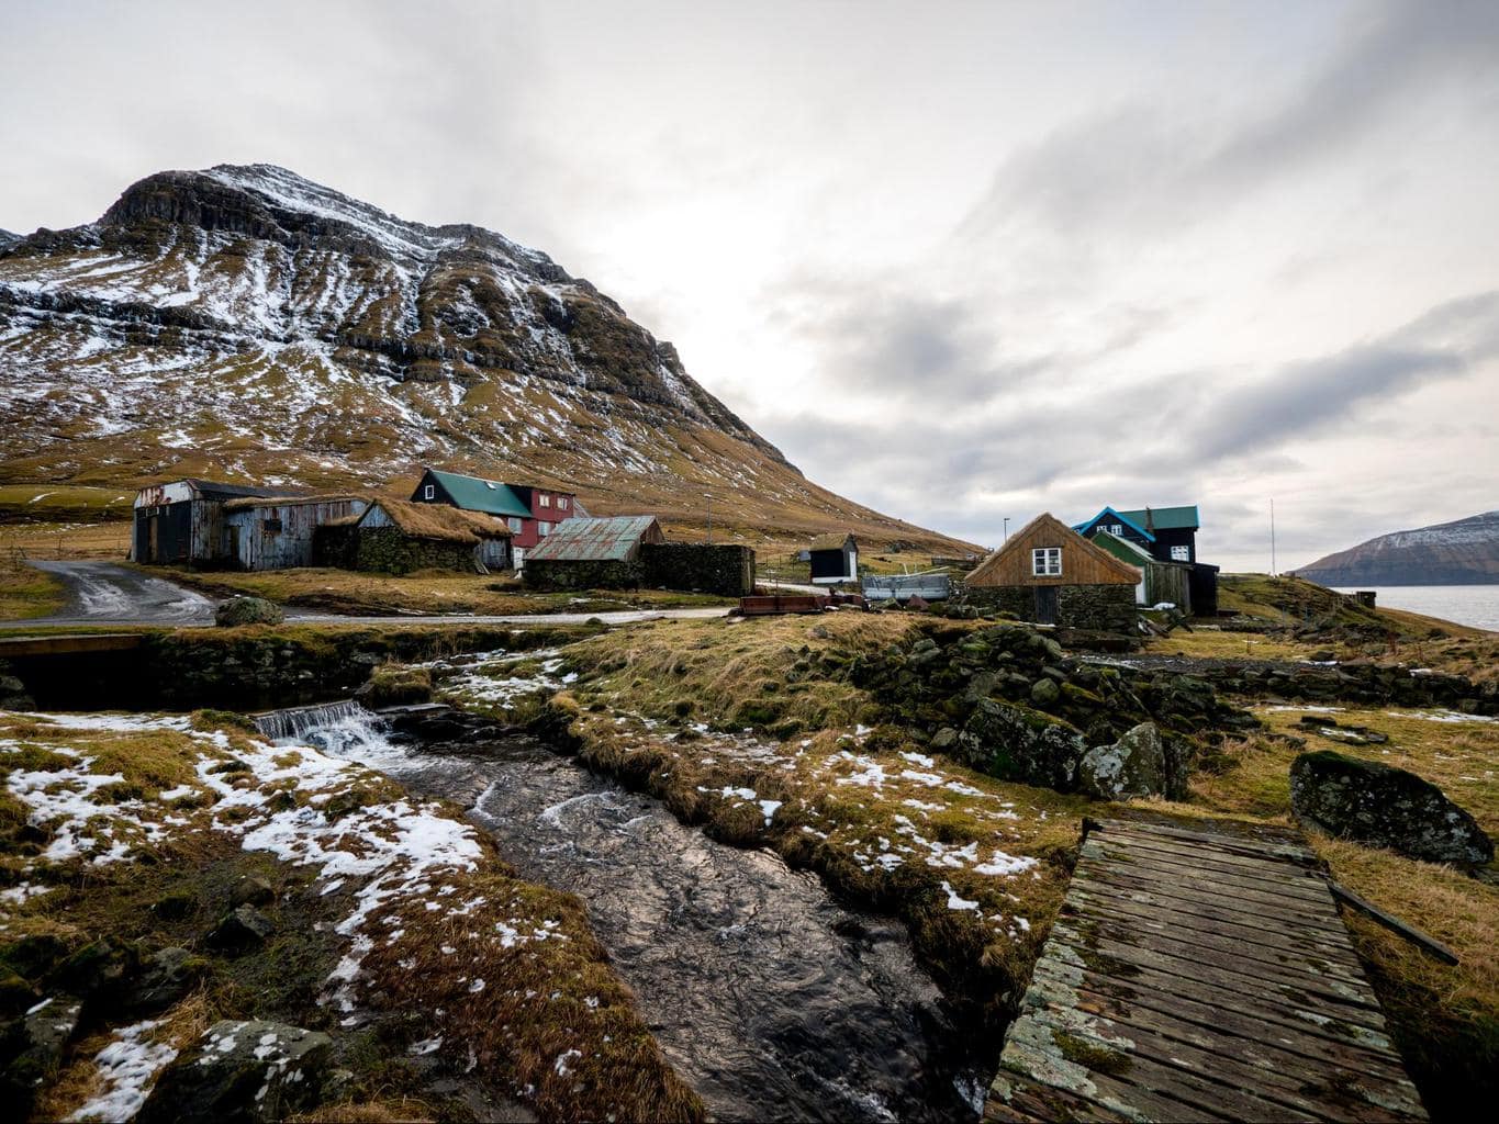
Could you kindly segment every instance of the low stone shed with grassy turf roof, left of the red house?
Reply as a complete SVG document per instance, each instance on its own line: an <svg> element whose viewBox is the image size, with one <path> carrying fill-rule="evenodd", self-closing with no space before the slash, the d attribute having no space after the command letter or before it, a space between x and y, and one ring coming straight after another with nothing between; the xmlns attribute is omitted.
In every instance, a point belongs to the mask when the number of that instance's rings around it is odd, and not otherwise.
<svg viewBox="0 0 1499 1124"><path fill-rule="evenodd" d="M510 528L478 511L405 499L372 501L363 516L319 532L321 565L409 574L414 569L489 571L510 565Z"/></svg>

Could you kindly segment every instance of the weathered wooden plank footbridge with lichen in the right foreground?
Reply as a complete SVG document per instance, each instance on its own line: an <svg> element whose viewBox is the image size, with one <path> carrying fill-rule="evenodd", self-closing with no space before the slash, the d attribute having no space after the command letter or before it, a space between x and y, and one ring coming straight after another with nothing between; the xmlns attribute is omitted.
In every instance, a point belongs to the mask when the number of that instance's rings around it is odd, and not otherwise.
<svg viewBox="0 0 1499 1124"><path fill-rule="evenodd" d="M1423 1121L1291 832L1108 820L1004 1039L986 1121Z"/></svg>

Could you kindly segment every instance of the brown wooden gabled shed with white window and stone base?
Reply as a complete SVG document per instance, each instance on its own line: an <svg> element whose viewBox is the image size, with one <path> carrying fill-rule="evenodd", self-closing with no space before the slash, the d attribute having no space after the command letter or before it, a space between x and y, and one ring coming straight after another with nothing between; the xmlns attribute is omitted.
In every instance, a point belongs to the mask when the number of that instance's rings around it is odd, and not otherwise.
<svg viewBox="0 0 1499 1124"><path fill-rule="evenodd" d="M1141 577L1139 568L1045 513L979 563L964 593L1042 625L1129 631Z"/></svg>

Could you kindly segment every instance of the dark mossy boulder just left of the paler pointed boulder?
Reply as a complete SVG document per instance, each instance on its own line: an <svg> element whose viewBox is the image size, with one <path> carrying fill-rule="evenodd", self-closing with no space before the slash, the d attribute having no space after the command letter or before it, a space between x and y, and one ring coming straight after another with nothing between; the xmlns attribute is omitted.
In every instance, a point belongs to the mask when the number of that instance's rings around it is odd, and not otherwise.
<svg viewBox="0 0 1499 1124"><path fill-rule="evenodd" d="M949 754L964 764L1006 781L1070 793L1078 763L1087 752L1070 724L1028 706L980 700Z"/></svg>

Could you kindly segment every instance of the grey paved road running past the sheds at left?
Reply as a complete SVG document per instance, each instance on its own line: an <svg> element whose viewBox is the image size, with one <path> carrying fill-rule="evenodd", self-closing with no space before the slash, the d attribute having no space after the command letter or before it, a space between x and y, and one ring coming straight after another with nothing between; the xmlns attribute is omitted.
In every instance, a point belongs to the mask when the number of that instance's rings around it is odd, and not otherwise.
<svg viewBox="0 0 1499 1124"><path fill-rule="evenodd" d="M37 569L60 577L69 590L69 605L57 616L0 623L15 625L174 625L213 623L213 598L178 586L163 577L114 562L31 562ZM340 616L337 613L288 608L286 619L298 623L339 625L582 625L603 620L625 625L655 619L705 619L726 616L727 608L661 608L621 613L517 613L513 616Z"/></svg>

